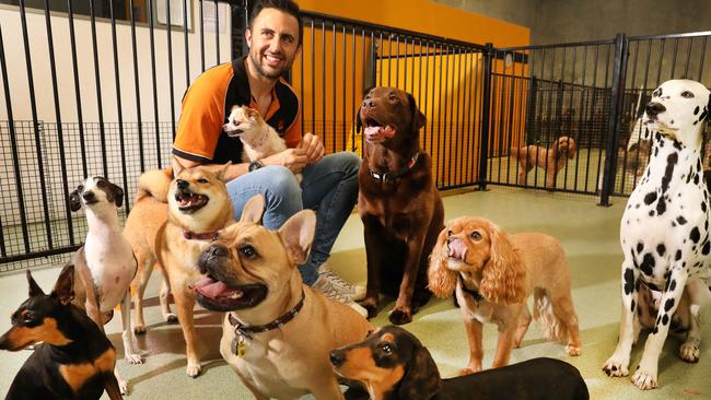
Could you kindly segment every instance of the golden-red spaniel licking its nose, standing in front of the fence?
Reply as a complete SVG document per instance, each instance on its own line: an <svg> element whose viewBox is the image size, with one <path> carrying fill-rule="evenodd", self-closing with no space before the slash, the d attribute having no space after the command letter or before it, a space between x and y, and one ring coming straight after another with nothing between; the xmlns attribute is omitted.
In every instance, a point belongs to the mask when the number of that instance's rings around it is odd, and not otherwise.
<svg viewBox="0 0 711 400"><path fill-rule="evenodd" d="M462 308L469 340L469 364L462 375L481 370L482 322L499 326L492 366L509 364L511 349L521 345L532 320L526 305L531 294L533 319L545 336L567 338L566 352L581 353L568 261L552 236L509 235L487 219L463 216L440 233L428 272L432 293L447 297L454 292Z"/></svg>

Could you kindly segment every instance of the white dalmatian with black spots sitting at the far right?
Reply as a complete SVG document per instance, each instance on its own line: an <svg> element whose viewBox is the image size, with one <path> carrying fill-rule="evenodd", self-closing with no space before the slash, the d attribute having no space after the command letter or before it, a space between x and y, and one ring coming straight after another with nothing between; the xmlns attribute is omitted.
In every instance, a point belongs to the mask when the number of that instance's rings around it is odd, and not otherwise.
<svg viewBox="0 0 711 400"><path fill-rule="evenodd" d="M686 320L688 333L679 355L690 363L699 360L698 310L710 297L711 278L711 210L701 168L710 102L701 83L672 80L652 93L643 117L654 132L653 149L620 222L625 255L620 332L615 353L603 366L609 376L629 375L632 344L641 325L649 323L651 332L632 375L640 389L657 386L660 353L669 328L684 325L680 316L691 315L691 320ZM657 293L657 298L650 293ZM656 318L640 322L642 308L655 310Z"/></svg>

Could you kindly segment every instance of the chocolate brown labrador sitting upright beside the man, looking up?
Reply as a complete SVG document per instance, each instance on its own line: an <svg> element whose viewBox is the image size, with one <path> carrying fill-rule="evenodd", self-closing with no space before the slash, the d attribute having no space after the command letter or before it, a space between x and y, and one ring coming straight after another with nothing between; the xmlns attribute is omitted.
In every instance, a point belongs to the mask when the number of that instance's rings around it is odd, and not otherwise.
<svg viewBox="0 0 711 400"><path fill-rule="evenodd" d="M428 258L444 227L432 160L420 149L426 117L411 94L395 87L372 89L359 117L365 146L358 211L368 257L368 292L361 304L374 317L380 293L397 296L389 320L407 323L430 298Z"/></svg>

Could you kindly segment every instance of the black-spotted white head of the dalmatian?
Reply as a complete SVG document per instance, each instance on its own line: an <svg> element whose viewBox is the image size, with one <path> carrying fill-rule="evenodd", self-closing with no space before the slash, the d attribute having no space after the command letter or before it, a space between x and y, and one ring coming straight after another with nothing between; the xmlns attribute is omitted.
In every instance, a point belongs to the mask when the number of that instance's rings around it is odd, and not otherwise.
<svg viewBox="0 0 711 400"><path fill-rule="evenodd" d="M703 123L709 119L710 93L696 81L666 81L652 92L644 123L669 139L700 145Z"/></svg>

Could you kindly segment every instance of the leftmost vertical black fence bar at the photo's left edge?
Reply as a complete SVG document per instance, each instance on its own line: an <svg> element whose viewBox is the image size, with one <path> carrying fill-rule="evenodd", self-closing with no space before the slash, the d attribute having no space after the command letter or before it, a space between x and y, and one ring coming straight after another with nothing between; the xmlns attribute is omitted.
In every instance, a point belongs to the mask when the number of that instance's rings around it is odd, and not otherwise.
<svg viewBox="0 0 711 400"><path fill-rule="evenodd" d="M18 152L18 132L15 131L15 120L12 113L12 97L10 94L10 80L8 80L8 63L5 60L5 48L2 35L2 24L0 24L0 69L2 69L2 87L5 96L5 108L8 110L8 128L10 130L10 148L12 149L12 166L15 177L15 190L18 191L18 209L20 211L20 224L22 228L22 243L25 254L30 252L30 232L27 230L27 213L25 208L25 193L22 186L22 172L20 170L20 154ZM1 231L1 230L0 230ZM0 240L2 244L2 257L7 257L4 247L4 236Z"/></svg>

